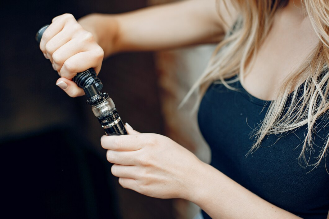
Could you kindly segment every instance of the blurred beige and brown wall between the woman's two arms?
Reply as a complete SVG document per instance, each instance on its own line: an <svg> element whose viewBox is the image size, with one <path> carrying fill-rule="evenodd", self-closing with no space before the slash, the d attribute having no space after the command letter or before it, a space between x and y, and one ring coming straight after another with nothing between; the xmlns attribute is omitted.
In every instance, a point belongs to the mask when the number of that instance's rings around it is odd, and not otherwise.
<svg viewBox="0 0 329 219"><path fill-rule="evenodd" d="M148 0L148 3L174 1ZM165 134L207 163L210 162L210 149L200 133L197 112L191 113L197 94L193 94L181 109L178 105L205 69L214 49L215 45L201 45L161 51L155 55ZM200 210L185 200L175 200L174 208L177 219L192 219Z"/></svg>

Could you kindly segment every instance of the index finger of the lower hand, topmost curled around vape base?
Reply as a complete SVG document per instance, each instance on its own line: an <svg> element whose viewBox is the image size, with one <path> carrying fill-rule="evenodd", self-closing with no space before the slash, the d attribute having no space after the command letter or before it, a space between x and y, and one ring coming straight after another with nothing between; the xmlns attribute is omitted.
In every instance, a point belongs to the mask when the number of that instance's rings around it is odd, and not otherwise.
<svg viewBox="0 0 329 219"><path fill-rule="evenodd" d="M144 134L103 135L101 145L113 151L137 151L145 144Z"/></svg>

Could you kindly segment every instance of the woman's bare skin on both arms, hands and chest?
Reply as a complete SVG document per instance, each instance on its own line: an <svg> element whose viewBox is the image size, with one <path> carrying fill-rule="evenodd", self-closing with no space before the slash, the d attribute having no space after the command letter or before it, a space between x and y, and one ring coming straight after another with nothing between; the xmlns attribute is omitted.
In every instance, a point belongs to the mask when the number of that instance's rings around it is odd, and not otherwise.
<svg viewBox="0 0 329 219"><path fill-rule="evenodd" d="M79 21L63 14L44 32L40 49L61 76L57 84L66 84L61 88L69 96L81 96L82 89L71 79L90 67L99 73L103 58L111 54L218 42L238 14L232 5L228 11L220 8L227 26L218 19L215 0L181 1L118 15L91 14ZM318 43L300 8L298 0L290 1L275 15L245 76L243 86L252 95L271 100L284 77ZM108 161L114 163L112 173L123 187L156 198L187 199L212 218L298 218L203 163L170 138L141 134L130 126L126 129L129 135L101 138Z"/></svg>

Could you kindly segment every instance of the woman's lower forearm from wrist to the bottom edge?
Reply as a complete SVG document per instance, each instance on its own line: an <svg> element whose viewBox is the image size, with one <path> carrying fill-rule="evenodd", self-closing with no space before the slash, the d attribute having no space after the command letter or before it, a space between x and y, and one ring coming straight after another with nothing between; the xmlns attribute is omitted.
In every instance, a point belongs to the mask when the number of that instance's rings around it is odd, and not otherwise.
<svg viewBox="0 0 329 219"><path fill-rule="evenodd" d="M237 182L201 163L198 182L193 183L194 194L188 199L212 218L299 218L265 201Z"/></svg>

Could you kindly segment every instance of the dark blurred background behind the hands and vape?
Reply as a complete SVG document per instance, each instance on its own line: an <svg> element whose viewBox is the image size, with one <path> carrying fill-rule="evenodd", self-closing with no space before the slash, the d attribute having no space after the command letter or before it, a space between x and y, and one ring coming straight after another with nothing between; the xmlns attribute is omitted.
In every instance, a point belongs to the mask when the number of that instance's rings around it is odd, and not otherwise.
<svg viewBox="0 0 329 219"><path fill-rule="evenodd" d="M140 195L112 176L103 130L85 103L55 85L58 78L35 34L53 17L120 13L144 0L5 1L1 3L0 217L173 218L172 200ZM99 75L124 122L164 133L152 53L118 54Z"/></svg>

